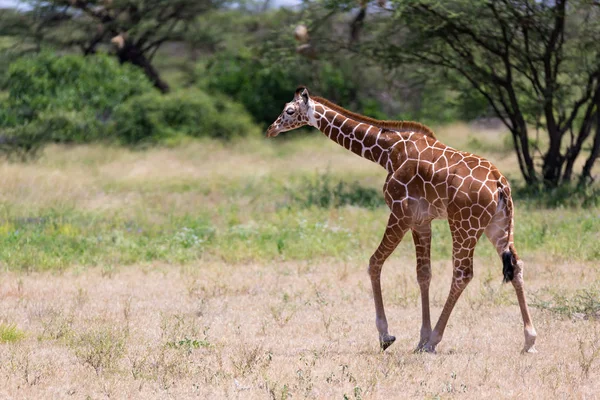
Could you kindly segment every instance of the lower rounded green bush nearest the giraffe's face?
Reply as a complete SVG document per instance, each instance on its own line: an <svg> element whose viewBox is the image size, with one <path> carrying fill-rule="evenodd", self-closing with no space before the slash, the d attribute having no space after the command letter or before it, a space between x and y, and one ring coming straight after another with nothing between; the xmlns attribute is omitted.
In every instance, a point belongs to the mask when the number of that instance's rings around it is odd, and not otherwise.
<svg viewBox="0 0 600 400"><path fill-rule="evenodd" d="M132 97L115 110L112 131L125 144L164 142L179 136L231 139L258 134L241 105L199 90Z"/></svg>

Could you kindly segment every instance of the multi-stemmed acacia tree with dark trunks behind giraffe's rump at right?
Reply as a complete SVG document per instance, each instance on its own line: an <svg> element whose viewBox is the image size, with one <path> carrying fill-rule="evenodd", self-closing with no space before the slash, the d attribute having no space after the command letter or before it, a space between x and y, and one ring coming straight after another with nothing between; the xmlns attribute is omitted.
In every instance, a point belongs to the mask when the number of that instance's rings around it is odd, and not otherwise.
<svg viewBox="0 0 600 400"><path fill-rule="evenodd" d="M357 3L322 4L344 10ZM592 180L600 156L600 2L391 0L368 9L351 49L391 68L462 76L510 130L527 184L570 182L588 147L580 183Z"/></svg>

